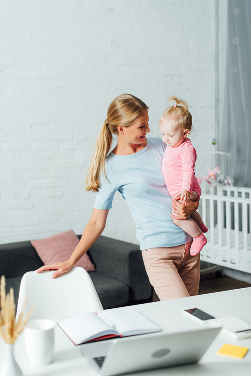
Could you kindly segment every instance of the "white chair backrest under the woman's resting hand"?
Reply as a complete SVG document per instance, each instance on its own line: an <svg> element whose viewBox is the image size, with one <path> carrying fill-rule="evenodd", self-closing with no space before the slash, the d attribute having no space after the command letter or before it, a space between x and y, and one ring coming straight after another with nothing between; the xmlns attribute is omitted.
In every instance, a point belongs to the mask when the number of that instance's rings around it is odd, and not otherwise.
<svg viewBox="0 0 251 376"><path fill-rule="evenodd" d="M20 284L17 318L29 293L25 312L35 305L31 319L68 318L103 309L89 274L80 267L51 278L53 272L27 272Z"/></svg>

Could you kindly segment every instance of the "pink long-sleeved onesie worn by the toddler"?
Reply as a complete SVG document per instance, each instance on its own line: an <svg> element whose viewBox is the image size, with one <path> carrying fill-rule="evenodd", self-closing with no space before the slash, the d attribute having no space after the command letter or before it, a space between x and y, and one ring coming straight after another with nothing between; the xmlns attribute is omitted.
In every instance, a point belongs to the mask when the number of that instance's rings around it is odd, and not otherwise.
<svg viewBox="0 0 251 376"><path fill-rule="evenodd" d="M196 151L190 139L185 139L176 148L167 147L162 160L162 173L167 189L174 197L180 190L201 195L200 185L194 176Z"/></svg>

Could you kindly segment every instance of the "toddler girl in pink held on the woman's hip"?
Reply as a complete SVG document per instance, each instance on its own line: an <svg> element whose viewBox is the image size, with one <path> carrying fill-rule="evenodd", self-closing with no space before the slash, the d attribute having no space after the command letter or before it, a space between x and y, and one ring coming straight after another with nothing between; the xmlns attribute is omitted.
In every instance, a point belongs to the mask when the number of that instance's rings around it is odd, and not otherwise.
<svg viewBox="0 0 251 376"><path fill-rule="evenodd" d="M162 160L162 172L171 197L187 205L190 200L196 201L201 195L198 180L194 176L197 154L187 138L193 127L192 115L184 100L178 100L175 96L169 100L174 100L175 105L168 107L160 119L162 141L168 146ZM190 254L196 256L207 242L203 234L207 232L207 227L197 211L190 217L192 219L173 218L173 222L193 237Z"/></svg>

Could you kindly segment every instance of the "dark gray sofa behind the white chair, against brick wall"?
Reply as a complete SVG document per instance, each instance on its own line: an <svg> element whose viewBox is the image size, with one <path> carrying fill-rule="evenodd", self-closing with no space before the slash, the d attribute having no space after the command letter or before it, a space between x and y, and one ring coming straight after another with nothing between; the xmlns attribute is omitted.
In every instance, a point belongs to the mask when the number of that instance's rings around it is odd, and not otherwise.
<svg viewBox="0 0 251 376"><path fill-rule="evenodd" d="M88 255L96 268L89 275L104 309L152 300L139 246L99 236ZM22 276L42 265L30 241L0 244L0 276L5 275L8 291L14 288L16 304Z"/></svg>

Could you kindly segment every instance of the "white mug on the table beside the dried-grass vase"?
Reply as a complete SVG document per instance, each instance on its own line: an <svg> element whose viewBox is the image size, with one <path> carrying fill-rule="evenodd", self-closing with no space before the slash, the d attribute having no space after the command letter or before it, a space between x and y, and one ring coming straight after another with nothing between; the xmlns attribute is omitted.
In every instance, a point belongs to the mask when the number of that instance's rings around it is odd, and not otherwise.
<svg viewBox="0 0 251 376"><path fill-rule="evenodd" d="M25 347L32 365L51 362L54 349L54 326L52 320L28 321L24 328Z"/></svg>

